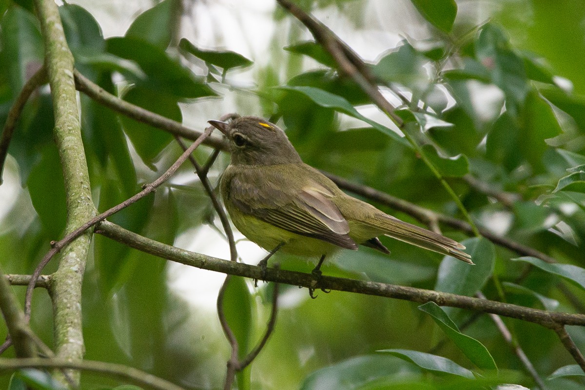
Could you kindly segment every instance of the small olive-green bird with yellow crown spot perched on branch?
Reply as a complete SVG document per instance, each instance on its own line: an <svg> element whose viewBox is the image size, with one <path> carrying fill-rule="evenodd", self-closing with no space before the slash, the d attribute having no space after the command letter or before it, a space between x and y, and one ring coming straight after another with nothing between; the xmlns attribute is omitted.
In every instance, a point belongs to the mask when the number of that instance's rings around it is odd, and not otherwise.
<svg viewBox="0 0 585 390"><path fill-rule="evenodd" d="M209 120L228 138L231 163L221 194L233 224L268 251L326 256L364 245L389 254L378 236L447 254L473 264L465 247L430 230L402 222L341 191L302 162L280 127L255 116L229 123ZM265 266L266 264L264 264Z"/></svg>

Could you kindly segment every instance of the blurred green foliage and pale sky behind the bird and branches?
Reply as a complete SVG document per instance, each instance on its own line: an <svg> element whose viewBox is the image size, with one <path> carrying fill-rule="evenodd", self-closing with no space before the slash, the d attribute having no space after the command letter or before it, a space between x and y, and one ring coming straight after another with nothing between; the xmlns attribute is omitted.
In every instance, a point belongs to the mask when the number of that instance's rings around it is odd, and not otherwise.
<svg viewBox="0 0 585 390"><path fill-rule="evenodd" d="M460 1L450 33L432 26L407 0L300 3L357 53L376 63L375 72L384 81L425 101L436 118L453 124L445 127L437 122L439 126L417 136L417 141L425 145L425 153L435 156L433 161L480 226L561 263L583 265L583 178L569 178L558 187L570 173L567 168L585 163L583 2ZM116 2L79 4L62 6L61 18L76 67L102 88L195 129L233 111L279 119L306 163L460 218L455 203L417 153L362 120L318 105L310 90L298 88L316 87L343 96L362 115L393 127L355 85L325 66L328 58L317 52L315 61L294 53L307 48L291 45L311 37L272 2L165 0L156 6L138 2L128 9L115 8ZM142 13L147 9L151 11ZM121 15L108 15L112 11ZM43 63L43 45L28 2L0 2L0 13L4 15L0 25L3 123L22 85ZM438 20L445 19L439 15ZM217 63L205 54L187 53L178 44L181 37L197 47L236 51L254 63L229 70L234 62ZM87 96L80 95L80 102L98 210L135 194L180 153L170 134L116 115ZM416 105L411 109L416 111ZM26 106L0 187L5 205L0 265L11 274L29 274L49 249L50 240L63 234L66 209L52 122L49 90L43 87ZM209 153L209 148L198 150L199 160ZM465 157L444 158L460 154ZM228 159L223 156L215 164L213 180ZM462 178L467 172L500 194L512 194L511 204L469 185ZM565 184L572 187L563 191ZM556 187L561 191L553 192ZM411 216L393 214L414 222ZM155 196L111 220L168 244L228 258L211 203L188 165ZM466 239L461 232L444 229L443 233ZM325 274L429 289L441 284L441 278L437 281L441 256L384 242L392 251L390 257L369 249L343 253L326 264ZM491 253L482 251L489 258L486 261L493 261L493 275L489 265L484 267L488 280L483 292L488 298L575 310L557 288L556 275L536 268L524 274L526 264L510 261L517 254L500 247L493 256L486 252ZM253 263L263 251L240 242L239 254ZM302 260L279 258L283 268L312 268ZM49 265L46 273L54 267ZM459 277L452 272L443 284L451 285ZM132 365L186 388L221 387L229 354L215 313L222 278L210 271L166 264L95 236L82 301L86 357ZM518 278L526 290L506 284L518 283ZM503 291L498 291L501 286ZM582 286L568 288L583 299ZM24 294L21 288L15 291ZM266 285L253 289L247 284L229 294L230 310L237 313L233 326L252 339L263 331L270 291ZM276 330L250 371L253 388L333 389L342 388L341 383L356 388L455 386L454 377L429 374L375 352L387 348L431 351L474 367L462 351L443 341L439 327L414 303L342 292L319 294L316 300L307 295L296 287L283 288ZM37 291L34 302L33 329L51 345L50 299L46 292ZM451 310L449 315L461 326L472 313ZM518 320L505 322L542 377L574 363L550 330ZM583 329L569 331L583 350ZM464 333L487 347L504 378L534 386L489 317L475 319ZM583 388L579 380L562 378L547 384ZM0 386L8 385L7 376L0 381ZM82 379L83 388L116 383L87 375Z"/></svg>

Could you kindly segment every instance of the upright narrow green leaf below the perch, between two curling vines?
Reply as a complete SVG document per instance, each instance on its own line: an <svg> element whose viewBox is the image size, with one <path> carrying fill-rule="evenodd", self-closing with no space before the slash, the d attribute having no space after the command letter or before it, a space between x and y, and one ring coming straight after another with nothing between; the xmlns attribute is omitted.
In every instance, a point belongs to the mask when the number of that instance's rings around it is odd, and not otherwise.
<svg viewBox="0 0 585 390"><path fill-rule="evenodd" d="M223 295L223 312L226 322L238 340L238 357L241 360L252 348L252 295L245 278L234 275L228 278ZM237 378L239 389L250 388L250 370L240 372Z"/></svg>

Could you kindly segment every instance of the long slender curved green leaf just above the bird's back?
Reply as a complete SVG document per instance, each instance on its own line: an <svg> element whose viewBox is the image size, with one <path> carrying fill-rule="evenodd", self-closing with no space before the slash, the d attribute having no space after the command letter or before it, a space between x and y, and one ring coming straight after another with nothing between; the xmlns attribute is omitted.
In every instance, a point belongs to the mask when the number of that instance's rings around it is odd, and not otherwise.
<svg viewBox="0 0 585 390"><path fill-rule="evenodd" d="M388 127L386 127L386 126L380 125L380 123L374 122L373 120L366 118L365 116L363 116L362 114L357 112L357 110L355 108L353 108L353 106L346 99L342 98L339 95L333 95L333 94L331 94L327 91L324 91L322 89L312 88L312 87L292 87L291 86L291 87L279 87L278 89L281 89L284 91L301 92L301 94L308 96L308 98L311 99L313 102L315 102L317 105L319 105L321 107L326 107L326 108L333 108L333 109L335 109L335 111L343 112L349 116L353 116L353 118L363 120L363 122L368 123L369 125L374 127L374 129L380 130L382 133L386 134L387 136L390 136L395 141L398 141L403 145L409 146L407 141L405 141L396 132L388 129Z"/></svg>

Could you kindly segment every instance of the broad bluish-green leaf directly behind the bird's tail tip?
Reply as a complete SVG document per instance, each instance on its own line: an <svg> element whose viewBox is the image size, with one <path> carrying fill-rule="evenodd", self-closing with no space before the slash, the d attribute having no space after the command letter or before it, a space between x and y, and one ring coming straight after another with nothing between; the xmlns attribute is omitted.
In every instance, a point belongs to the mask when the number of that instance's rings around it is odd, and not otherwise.
<svg viewBox="0 0 585 390"><path fill-rule="evenodd" d="M472 296L486 284L494 272L494 244L482 238L474 237L462 241L471 254L473 263L469 265L451 256L445 256L439 265L439 274L435 284L436 291Z"/></svg>

